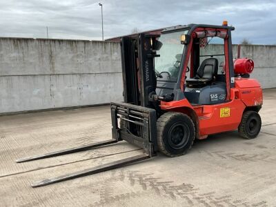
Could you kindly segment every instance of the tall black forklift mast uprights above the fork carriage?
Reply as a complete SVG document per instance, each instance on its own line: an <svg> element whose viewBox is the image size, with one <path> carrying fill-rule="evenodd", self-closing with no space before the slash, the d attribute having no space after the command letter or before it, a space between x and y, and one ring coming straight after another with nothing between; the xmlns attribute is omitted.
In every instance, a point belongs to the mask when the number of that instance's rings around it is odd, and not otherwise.
<svg viewBox="0 0 276 207"><path fill-rule="evenodd" d="M158 34L134 34L121 38L121 66L124 102L155 108L150 95L155 94L155 43Z"/></svg>

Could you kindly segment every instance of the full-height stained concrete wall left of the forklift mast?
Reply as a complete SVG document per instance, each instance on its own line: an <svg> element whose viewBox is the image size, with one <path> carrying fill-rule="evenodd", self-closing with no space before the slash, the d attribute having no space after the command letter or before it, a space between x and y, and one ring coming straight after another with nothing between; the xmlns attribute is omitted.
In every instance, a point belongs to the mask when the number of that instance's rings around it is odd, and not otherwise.
<svg viewBox="0 0 276 207"><path fill-rule="evenodd" d="M122 100L118 43L0 39L0 113Z"/></svg>

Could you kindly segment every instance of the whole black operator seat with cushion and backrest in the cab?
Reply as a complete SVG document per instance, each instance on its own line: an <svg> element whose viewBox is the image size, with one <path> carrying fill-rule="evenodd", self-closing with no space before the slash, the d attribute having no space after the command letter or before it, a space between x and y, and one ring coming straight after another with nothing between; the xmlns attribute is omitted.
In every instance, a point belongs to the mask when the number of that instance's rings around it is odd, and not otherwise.
<svg viewBox="0 0 276 207"><path fill-rule="evenodd" d="M197 70L197 75L193 79L186 79L188 86L203 86L215 81L218 70L218 61L216 58L207 58L202 61Z"/></svg>

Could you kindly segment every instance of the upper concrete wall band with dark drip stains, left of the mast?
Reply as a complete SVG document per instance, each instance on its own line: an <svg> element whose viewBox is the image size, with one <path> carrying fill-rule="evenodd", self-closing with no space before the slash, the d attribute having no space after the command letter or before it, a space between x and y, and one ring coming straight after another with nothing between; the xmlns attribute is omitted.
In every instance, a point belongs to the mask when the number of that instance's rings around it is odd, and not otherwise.
<svg viewBox="0 0 276 207"><path fill-rule="evenodd" d="M119 43L0 39L0 75L121 72Z"/></svg>

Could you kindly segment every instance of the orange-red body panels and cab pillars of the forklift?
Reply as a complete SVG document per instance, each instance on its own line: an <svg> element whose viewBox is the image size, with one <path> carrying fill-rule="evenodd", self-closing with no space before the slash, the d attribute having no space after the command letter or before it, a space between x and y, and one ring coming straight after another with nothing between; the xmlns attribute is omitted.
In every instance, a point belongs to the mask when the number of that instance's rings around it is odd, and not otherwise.
<svg viewBox="0 0 276 207"><path fill-rule="evenodd" d="M197 28L199 30L209 28ZM210 28L210 30L214 30ZM193 50L192 35L188 44L188 52L184 60L184 68L188 66L190 52ZM229 83L229 57L228 37L224 39L224 52L226 57L226 88L227 96L225 103L213 105L192 106L188 99L179 101L161 101L161 110L183 112L193 117L197 127L197 139L204 139L208 135L219 132L236 130L242 120L242 115L248 106L260 106L263 103L262 88L255 79L235 78L235 88L230 88ZM184 92L186 70L181 75L181 91Z"/></svg>

